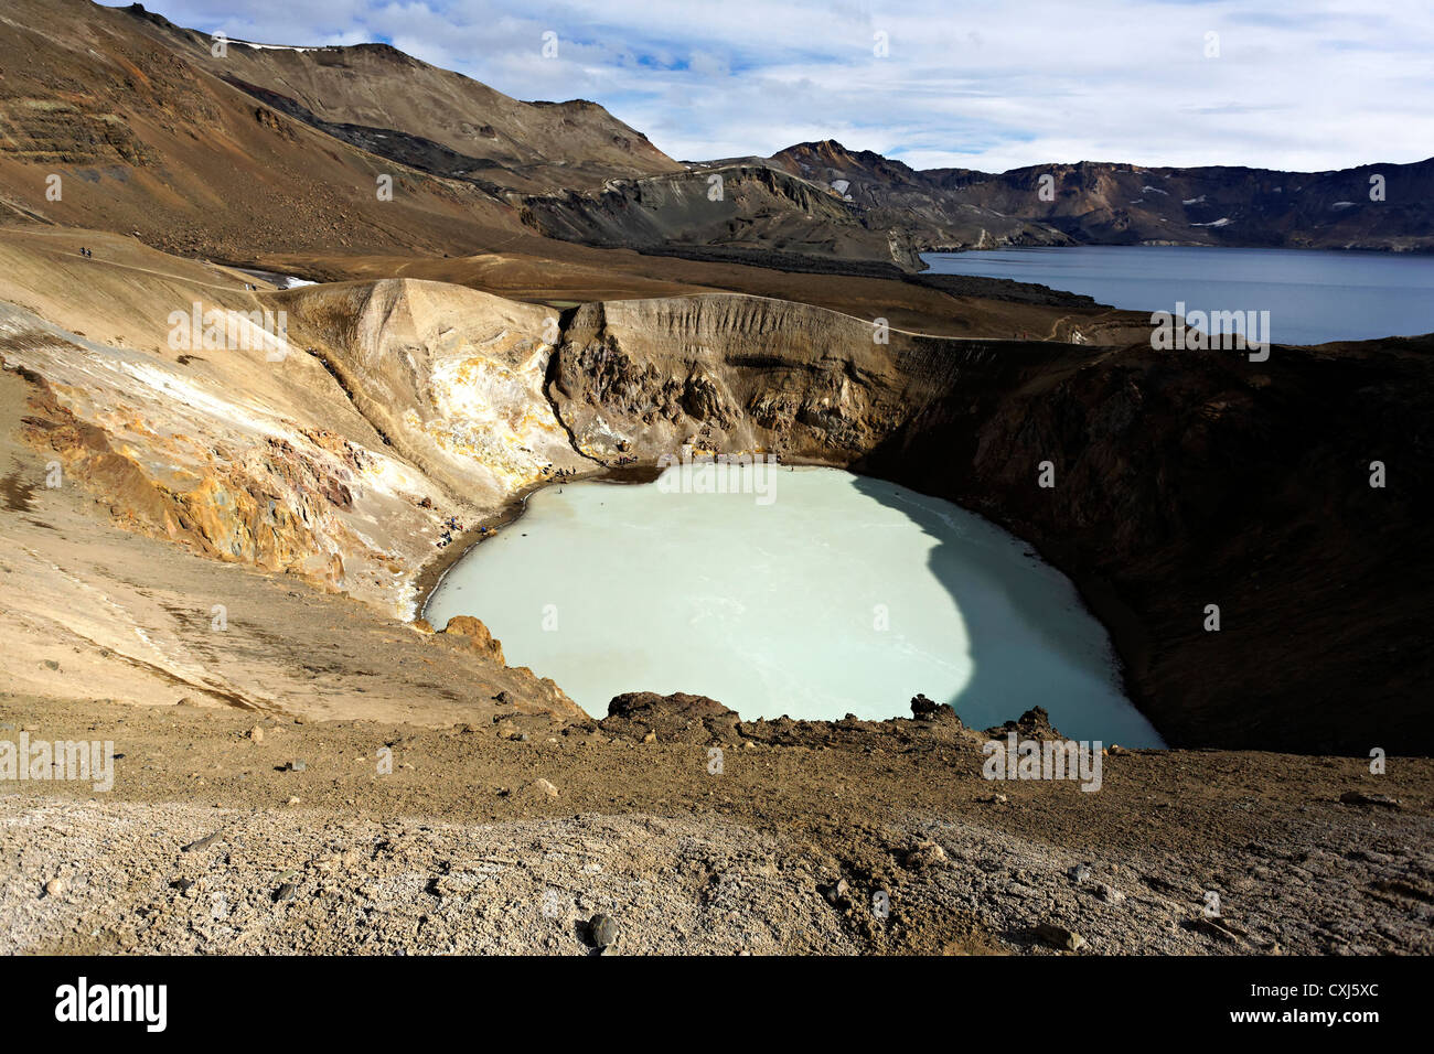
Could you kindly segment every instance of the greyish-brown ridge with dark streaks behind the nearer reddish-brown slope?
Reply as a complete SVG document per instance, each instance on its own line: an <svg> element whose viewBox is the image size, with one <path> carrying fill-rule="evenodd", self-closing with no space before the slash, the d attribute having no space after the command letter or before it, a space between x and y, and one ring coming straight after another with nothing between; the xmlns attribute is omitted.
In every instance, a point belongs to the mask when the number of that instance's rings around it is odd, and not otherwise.
<svg viewBox="0 0 1434 1054"><path fill-rule="evenodd" d="M794 268L812 267L809 258L919 267L909 222L863 215L829 188L761 163L688 171L595 103L519 102L387 44L228 42L215 56L202 33L139 4L125 14L195 66L350 145L532 195L509 199L552 238L711 260L771 254Z"/></svg>

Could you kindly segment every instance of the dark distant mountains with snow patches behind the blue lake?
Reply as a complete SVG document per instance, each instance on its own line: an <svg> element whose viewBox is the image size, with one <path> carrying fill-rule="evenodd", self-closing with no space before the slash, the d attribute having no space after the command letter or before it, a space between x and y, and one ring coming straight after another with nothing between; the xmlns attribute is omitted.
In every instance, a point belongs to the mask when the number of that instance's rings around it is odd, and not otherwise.
<svg viewBox="0 0 1434 1054"><path fill-rule="evenodd" d="M959 168L918 172L825 141L790 146L771 162L842 188L880 222L905 221L922 248L1008 242L1434 248L1434 159L1336 172L1083 161L997 175ZM1371 182L1372 176L1380 179ZM1375 192L1381 201L1372 199Z"/></svg>

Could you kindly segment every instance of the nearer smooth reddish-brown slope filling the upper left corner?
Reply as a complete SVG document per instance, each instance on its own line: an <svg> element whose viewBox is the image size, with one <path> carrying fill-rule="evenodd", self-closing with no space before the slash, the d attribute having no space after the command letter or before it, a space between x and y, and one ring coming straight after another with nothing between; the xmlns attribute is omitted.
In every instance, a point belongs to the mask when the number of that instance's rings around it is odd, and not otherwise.
<svg viewBox="0 0 1434 1054"><path fill-rule="evenodd" d="M0 69L0 211L221 258L348 245L442 255L519 227L480 188L275 113L87 0L9 3Z"/></svg>

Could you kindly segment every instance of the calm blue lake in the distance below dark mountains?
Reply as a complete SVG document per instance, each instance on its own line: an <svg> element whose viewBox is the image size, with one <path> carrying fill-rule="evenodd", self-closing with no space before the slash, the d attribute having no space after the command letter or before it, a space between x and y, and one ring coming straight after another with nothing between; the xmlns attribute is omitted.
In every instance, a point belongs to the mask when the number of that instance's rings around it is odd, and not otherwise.
<svg viewBox="0 0 1434 1054"><path fill-rule="evenodd" d="M1081 245L925 252L932 274L1014 278L1134 311L1269 311L1276 344L1434 333L1434 257Z"/></svg>

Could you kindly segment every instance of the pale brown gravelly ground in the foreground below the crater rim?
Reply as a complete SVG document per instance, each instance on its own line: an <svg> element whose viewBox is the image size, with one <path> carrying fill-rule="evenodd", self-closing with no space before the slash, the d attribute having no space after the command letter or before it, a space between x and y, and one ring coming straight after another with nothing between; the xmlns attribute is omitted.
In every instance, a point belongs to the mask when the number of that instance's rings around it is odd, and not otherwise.
<svg viewBox="0 0 1434 1054"><path fill-rule="evenodd" d="M6 700L0 736L40 736L26 713ZM1424 761L1381 784L1398 804L1341 800L1357 759L1184 751L1111 756L1096 794L992 792L954 718L749 724L784 743L713 776L708 749L635 718L515 739L47 714L113 737L118 776L0 794L4 954L1434 951ZM370 774L376 737L391 776Z"/></svg>

